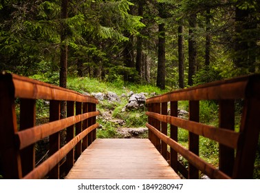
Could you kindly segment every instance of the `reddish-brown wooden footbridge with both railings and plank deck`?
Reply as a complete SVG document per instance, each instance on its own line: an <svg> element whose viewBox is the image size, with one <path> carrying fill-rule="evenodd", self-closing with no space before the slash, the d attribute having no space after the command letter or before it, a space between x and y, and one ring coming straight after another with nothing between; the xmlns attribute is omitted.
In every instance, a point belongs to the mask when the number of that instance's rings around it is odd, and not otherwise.
<svg viewBox="0 0 260 193"><path fill-rule="evenodd" d="M259 140L260 77L252 75L177 90L147 99L149 139L96 139L98 101L72 90L0 75L0 159L5 179L252 179ZM50 122L36 125L36 100L50 100ZM235 131L235 100L243 101ZM199 101L219 102L219 127L199 123ZM61 102L67 118L61 119ZM189 101L189 119L177 116ZM15 105L19 105L19 125ZM170 114L169 114L170 110ZM188 130L188 148L177 131ZM66 143L61 146L61 131ZM199 136L219 143L219 167L199 157ZM49 139L49 157L35 164L35 144ZM188 161L188 168L180 163Z"/></svg>

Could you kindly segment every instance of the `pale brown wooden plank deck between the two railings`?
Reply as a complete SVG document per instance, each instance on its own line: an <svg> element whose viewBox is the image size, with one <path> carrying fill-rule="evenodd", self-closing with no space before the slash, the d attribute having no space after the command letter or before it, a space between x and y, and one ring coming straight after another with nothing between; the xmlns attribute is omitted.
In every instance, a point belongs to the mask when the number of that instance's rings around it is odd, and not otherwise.
<svg viewBox="0 0 260 193"><path fill-rule="evenodd" d="M66 179L180 179L149 139L96 139Z"/></svg>

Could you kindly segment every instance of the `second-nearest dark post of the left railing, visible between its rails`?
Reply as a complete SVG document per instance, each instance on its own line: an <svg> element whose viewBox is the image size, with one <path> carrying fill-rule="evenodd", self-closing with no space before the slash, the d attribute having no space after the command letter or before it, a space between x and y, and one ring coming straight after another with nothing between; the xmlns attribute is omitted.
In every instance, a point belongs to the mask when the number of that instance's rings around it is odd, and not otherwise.
<svg viewBox="0 0 260 193"><path fill-rule="evenodd" d="M20 99L20 130L34 127L36 123L36 101L34 99ZM32 144L21 150L23 176L35 167L35 145Z"/></svg>

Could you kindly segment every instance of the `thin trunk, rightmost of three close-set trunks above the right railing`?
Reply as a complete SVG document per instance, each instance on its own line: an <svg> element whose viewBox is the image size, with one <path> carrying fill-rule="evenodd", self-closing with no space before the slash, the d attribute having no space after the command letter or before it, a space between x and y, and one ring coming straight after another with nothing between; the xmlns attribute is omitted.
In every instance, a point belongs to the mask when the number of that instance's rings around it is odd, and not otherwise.
<svg viewBox="0 0 260 193"><path fill-rule="evenodd" d="M206 10L205 66L210 65L210 8Z"/></svg>

